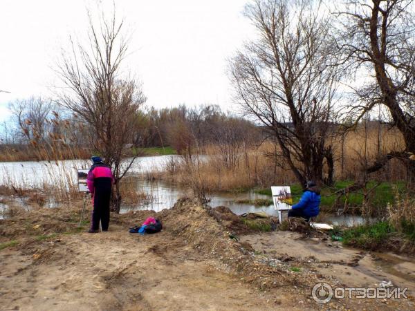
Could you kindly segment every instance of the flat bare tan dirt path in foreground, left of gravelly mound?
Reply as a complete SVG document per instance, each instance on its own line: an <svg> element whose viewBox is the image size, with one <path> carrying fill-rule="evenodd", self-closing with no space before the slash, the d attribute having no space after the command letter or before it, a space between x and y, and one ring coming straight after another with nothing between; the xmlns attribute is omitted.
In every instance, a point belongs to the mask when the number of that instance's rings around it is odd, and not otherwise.
<svg viewBox="0 0 415 311"><path fill-rule="evenodd" d="M167 233L44 241L0 252L0 310L272 310L275 299L217 269ZM272 297L271 297L272 298ZM268 302L267 302L268 300ZM290 301L279 298L278 303ZM291 305L292 306L292 305Z"/></svg>

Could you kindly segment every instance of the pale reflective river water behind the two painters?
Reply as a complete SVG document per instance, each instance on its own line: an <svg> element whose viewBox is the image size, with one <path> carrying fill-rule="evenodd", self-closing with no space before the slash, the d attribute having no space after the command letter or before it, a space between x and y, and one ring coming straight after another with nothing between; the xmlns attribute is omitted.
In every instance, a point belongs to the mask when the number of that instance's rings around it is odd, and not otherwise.
<svg viewBox="0 0 415 311"><path fill-rule="evenodd" d="M178 156L149 156L138 158L129 170L129 176L141 176L151 171L163 171L170 160ZM64 161L39 161L39 162L0 162L0 185L20 187L24 189L42 187L68 187L77 183L77 169L88 169L91 165L89 160L64 160ZM172 183L160 180L149 181L138 178L137 191L147 194L150 200L136 206L123 206L121 212L136 209L152 209L161 211L171 208L174 203L184 196L192 196L190 189L183 189ZM273 205L255 206L252 204L240 203L241 200L271 199L271 196L255 194L254 191L247 191L241 194L226 192L214 192L207 195L212 207L226 206L235 214L264 211L270 216L277 216ZM52 207L53 202L48 201ZM0 218L2 211L7 205L0 203ZM326 217L333 225L359 225L364 223L360 216L337 216Z"/></svg>

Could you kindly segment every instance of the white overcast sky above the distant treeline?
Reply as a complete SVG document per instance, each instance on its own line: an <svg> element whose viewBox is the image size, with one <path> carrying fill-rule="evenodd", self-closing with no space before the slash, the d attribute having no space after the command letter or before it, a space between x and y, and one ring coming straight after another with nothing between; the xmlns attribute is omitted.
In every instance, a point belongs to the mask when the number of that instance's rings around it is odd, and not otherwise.
<svg viewBox="0 0 415 311"><path fill-rule="evenodd" d="M227 59L252 37L243 17L248 0L116 0L133 32L127 67L138 75L147 105L219 104L232 110ZM104 6L111 0L102 0ZM31 95L50 96L53 71L69 35L86 35L90 0L1 0L0 121L7 105Z"/></svg>

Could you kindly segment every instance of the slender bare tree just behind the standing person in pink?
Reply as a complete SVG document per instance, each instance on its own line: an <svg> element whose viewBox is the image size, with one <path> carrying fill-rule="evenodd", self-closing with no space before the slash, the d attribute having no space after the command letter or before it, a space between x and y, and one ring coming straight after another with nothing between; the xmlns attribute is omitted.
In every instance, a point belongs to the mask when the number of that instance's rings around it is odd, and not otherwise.
<svg viewBox="0 0 415 311"><path fill-rule="evenodd" d="M136 141L138 112L145 102L140 84L121 76L128 42L122 33L124 21L101 17L95 26L89 16L89 41L82 44L71 39L71 53L62 53L58 73L70 90L59 95L59 104L76 113L93 131L89 142L112 168L115 182L113 210L121 205L120 180L136 157L126 164L126 148Z"/></svg>

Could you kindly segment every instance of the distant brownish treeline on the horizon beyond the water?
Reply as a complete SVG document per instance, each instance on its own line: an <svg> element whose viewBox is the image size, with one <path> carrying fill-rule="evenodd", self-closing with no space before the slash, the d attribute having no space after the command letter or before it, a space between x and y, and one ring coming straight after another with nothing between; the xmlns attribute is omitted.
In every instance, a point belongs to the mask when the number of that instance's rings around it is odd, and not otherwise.
<svg viewBox="0 0 415 311"><path fill-rule="evenodd" d="M50 160L74 158L94 152L97 137L84 120L55 105L52 100L31 97L10 104L11 120L1 129L0 160ZM192 156L208 144L260 144L262 129L219 106L141 109L134 118L136 134L125 148L171 146L177 153ZM199 149L197 151L196 149Z"/></svg>

